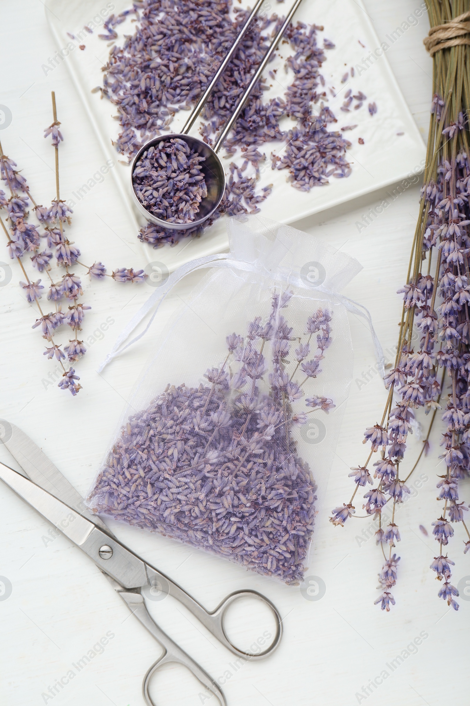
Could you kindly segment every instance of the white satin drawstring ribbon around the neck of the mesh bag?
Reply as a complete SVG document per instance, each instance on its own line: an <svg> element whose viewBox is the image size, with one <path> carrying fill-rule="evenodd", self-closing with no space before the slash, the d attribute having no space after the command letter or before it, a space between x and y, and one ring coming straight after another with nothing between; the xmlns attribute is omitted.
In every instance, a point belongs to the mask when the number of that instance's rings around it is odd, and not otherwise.
<svg viewBox="0 0 470 706"><path fill-rule="evenodd" d="M236 260L235 258L233 258L231 253L208 255L204 258L197 258L197 260L192 260L188 263L185 263L185 265L181 265L168 277L166 282L161 285L161 287L156 289L156 291L150 295L149 299L147 299L145 304L140 307L139 311L137 311L135 316L132 316L128 325L126 325L125 328L121 331L120 335L118 336L118 339L116 340L116 343L113 345L113 348L106 356L106 359L104 359L104 361L99 365L98 372L101 373L104 367L108 365L114 358L123 353L125 349L130 347L133 343L138 341L140 338L142 338L142 336L147 333L152 321L154 321L157 311L159 311L161 302L163 301L163 299L165 299L168 292L171 292L171 289L173 289L173 287L178 284L180 280L183 280L183 277L185 277L191 272L195 272L196 270L203 270L204 268L213 267L235 267L238 270L245 270L247 272L259 272L260 270L262 271L266 269L264 268L264 265L259 262L247 263L244 261ZM272 273L268 272L268 270L266 270L266 275L272 277ZM309 286L299 275L293 275L290 270L285 270L285 272L283 272L282 270L276 270L276 279L285 280L288 284L293 285L295 287L302 287L303 289L316 289L316 291L328 294L330 297L336 297L341 302L341 304L345 306L347 311L351 311L351 313L365 318L367 323L369 324L373 345L376 350L376 358L378 364L381 366L382 377L385 376L385 358L383 357L383 349L381 346L381 342L378 340L376 331L373 328L371 314L365 306L362 306L362 304L359 304L353 299L349 299L349 297L345 297L343 294L330 292L328 289L324 289L323 287L321 287L321 285L317 287L314 287L313 285ZM132 331L137 328L142 319L147 316L147 313L149 313L149 311L151 311L154 306L154 313L152 313L149 323L147 323L147 326L144 328L142 333L132 338L132 340L126 343L126 345L123 345L123 343L128 340L128 337L131 335ZM121 347L121 345L123 347Z"/></svg>

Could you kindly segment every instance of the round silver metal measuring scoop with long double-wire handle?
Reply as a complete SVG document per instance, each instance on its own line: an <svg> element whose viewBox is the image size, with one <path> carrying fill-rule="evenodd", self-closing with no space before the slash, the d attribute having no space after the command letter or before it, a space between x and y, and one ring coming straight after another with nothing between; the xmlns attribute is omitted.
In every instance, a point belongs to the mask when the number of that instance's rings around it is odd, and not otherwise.
<svg viewBox="0 0 470 706"><path fill-rule="evenodd" d="M183 126L183 130L181 133L169 133L166 135L161 135L159 137L155 137L149 142L145 143L145 145L142 145L140 150L137 152L137 155L135 155L134 159L132 160L132 168L130 170L130 186L132 190L132 197L134 199L134 203L137 206L138 210L142 215L144 215L147 220L151 221L152 223L155 223L156 225L159 225L161 228L168 228L172 230L187 230L188 228L194 228L199 225L202 225L204 221L206 221L208 218L211 217L211 215L214 214L216 209L218 208L218 205L222 201L223 193L225 191L225 170L223 168L223 164L221 162L220 157L218 157L218 151L221 149L225 138L228 136L228 133L230 133L230 130L233 128L233 125L235 124L235 121L237 120L237 117L240 115L240 112L242 112L243 107L245 106L245 103L248 100L249 95L251 94L252 90L254 89L256 83L258 83L259 78L261 77L261 73L263 73L264 68L266 64L268 64L268 61L271 59L271 56L273 53L276 51L276 47L278 46L278 42L280 41L281 37L283 37L283 34L285 30L287 30L287 27L290 23L290 20L292 20L292 16L294 15L295 11L297 10L299 4L302 2L302 0L296 0L295 3L293 4L292 8L290 9L289 14L285 18L285 21L280 28L280 30L277 32L276 37L273 38L273 41L271 42L268 50L266 51L266 54L264 54L263 60L261 61L261 64L259 64L258 68L256 69L252 80L249 82L249 85L247 85L247 88L245 88L245 91L242 93L242 96L240 97L240 100L237 102L237 105L235 106L235 110L233 114L230 116L228 121L225 123L225 126L223 127L220 135L218 136L218 139L216 141L216 144L214 145L214 148L211 148L210 145L207 143L203 142L203 140L200 140L197 137L192 137L188 135L190 129L192 128L194 122L196 121L197 117L199 116L199 113L202 111L202 108L204 107L204 104L206 103L207 99L209 98L209 95L211 95L212 90L214 89L214 86L218 82L218 79L221 77L223 71L225 71L225 67L229 63L230 59L232 58L233 54L235 54L240 42L242 41L243 37L245 36L247 30L249 29L249 25L252 23L252 20L256 13L258 12L259 8L261 5L264 3L264 0L259 0L256 5L254 6L252 12L249 15L249 18L245 22L245 25L243 25L242 30L239 35L237 35L237 38L233 44L233 46L230 48L230 51L228 54L225 56L225 59L223 59L221 65L218 67L214 78L210 81L209 85L207 85L206 90L202 94L202 96L199 98L197 104L194 106L194 109L192 109L192 112L187 119L185 125ZM194 220L188 222L188 223L174 223L174 222L169 222L167 220L163 220L161 218L157 218L153 213L150 213L150 211L147 210L147 208L144 207L144 205L141 203L139 198L137 198L137 194L135 193L134 189L134 180L133 180L133 174L134 170L136 167L137 162L139 162L140 158L146 152L149 148L155 147L156 145L159 145L161 140L171 140L178 138L180 140L185 140L185 143L189 146L190 150L194 150L194 152L198 152L199 155L204 157L204 162L201 163L202 166L202 173L204 174L204 181L206 182L206 189L207 189L207 196L202 199L201 203L199 204L199 209L197 212L197 218Z"/></svg>

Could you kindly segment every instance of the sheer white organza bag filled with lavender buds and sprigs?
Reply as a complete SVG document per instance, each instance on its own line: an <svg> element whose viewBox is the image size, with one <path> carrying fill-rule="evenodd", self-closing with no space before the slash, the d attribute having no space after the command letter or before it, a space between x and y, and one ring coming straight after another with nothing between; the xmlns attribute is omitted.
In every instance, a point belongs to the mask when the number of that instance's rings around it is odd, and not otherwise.
<svg viewBox="0 0 470 706"><path fill-rule="evenodd" d="M211 268L159 337L87 506L298 585L352 378L339 292L361 265L264 217L228 234L228 255L153 295Z"/></svg>

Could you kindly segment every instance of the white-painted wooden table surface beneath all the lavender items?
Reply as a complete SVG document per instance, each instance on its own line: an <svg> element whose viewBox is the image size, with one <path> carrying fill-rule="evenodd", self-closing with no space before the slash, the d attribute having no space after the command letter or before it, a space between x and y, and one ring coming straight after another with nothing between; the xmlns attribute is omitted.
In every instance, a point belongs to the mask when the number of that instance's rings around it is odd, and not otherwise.
<svg viewBox="0 0 470 706"><path fill-rule="evenodd" d="M420 4L420 0L395 0L392 4L366 0L381 40ZM51 123L50 91L55 90L66 135L61 146L61 189L68 198L97 172L103 157L70 85L66 66L61 64L44 76L42 64L55 47L42 2L3 0L1 16L0 103L13 115L11 125L0 131L4 151L25 168L39 201L50 200L54 153L49 141L42 139L42 130ZM425 15L387 52L423 138L432 73L431 59L422 44L427 31ZM356 222L383 198L389 198L390 207L359 233ZM299 225L364 265L345 293L369 307L383 347L390 351L400 317L400 297L395 291L406 273L418 199L419 186L410 186L394 201L385 193L374 193ZM111 177L106 176L82 198L73 217L82 261L101 260L109 268L143 265L141 246L126 223ZM6 250L0 250L0 259L7 258ZM121 287L109 281L87 285L84 299L92 310L87 313L85 340L92 338L89 352L78 365L83 390L72 400L68 393L57 390L55 383L48 384L54 381L54 365L42 356L44 342L31 330L35 311L18 287L18 266L11 266L12 281L0 289L0 417L30 434L85 493L159 330L199 275L178 285L162 306L151 333L102 375L95 372L97 364L151 290L147 285ZM106 320L113 322L107 329L103 325ZM350 466L364 461L363 431L379 420L385 401L378 375L367 372L375 363L369 333L354 316L350 323L354 380L325 511L316 530L310 572L325 582L326 594L320 600L307 600L298 589L246 573L182 544L110 523L118 537L206 606L215 606L230 591L252 587L266 593L285 616L285 636L278 652L265 662L235 669L233 656L179 604L167 598L152 606L163 629L218 678L231 706L352 706L364 701L382 706L397 702L438 706L463 703L468 698L464 675L468 669L465 640L470 602L462 599L455 614L438 600L438 582L429 569L435 542L419 531L422 524L431 534L431 522L438 513L439 425L433 433L431 453L416 471L415 497L400 508L402 561L393 590L397 605L390 614L373 605L382 561L380 549L370 539L371 522L350 520L342 530L327 521L328 510L350 496L352 484L347 474ZM416 438L411 447L418 453ZM11 465L6 450L0 451L1 460ZM110 702L141 706L142 675L158 656L159 647L137 621L128 619L128 609L92 563L64 537L51 537L48 523L4 486L0 486L0 517L0 575L12 586L11 596L0 601L1 702L8 706L104 706ZM459 528L456 535L450 544L450 556L456 561L454 583L470 575ZM250 634L256 638L266 624L260 622L261 616L250 616L255 631ZM232 621L236 629L235 614ZM99 646L101 638L101 645L106 642L104 647ZM83 655L88 655L88 660L78 664ZM442 662L449 665L447 673L440 669ZM54 688L61 679L62 686ZM373 685L371 680L375 680ZM177 668L162 672L155 686L159 706L206 702L190 676Z"/></svg>

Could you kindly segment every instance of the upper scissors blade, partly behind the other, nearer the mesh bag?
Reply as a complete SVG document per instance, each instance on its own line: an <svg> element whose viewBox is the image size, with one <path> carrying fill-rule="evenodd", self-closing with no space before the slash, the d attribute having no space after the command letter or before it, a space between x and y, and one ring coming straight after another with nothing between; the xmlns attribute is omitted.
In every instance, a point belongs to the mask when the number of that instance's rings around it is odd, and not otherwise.
<svg viewBox="0 0 470 706"><path fill-rule="evenodd" d="M10 424L10 422L8 422L8 424ZM54 463L49 460L44 451L42 451L24 431L19 429L16 424L10 424L10 426L12 431L11 438L3 443L13 458L18 461L27 477L36 485L68 505L69 508L78 510L80 515L87 517L94 522L95 525L101 527L102 530L106 530L106 532L112 534L104 522L100 520L97 515L90 513L85 507L80 493L75 490L73 485L70 484L58 468L54 466Z"/></svg>

